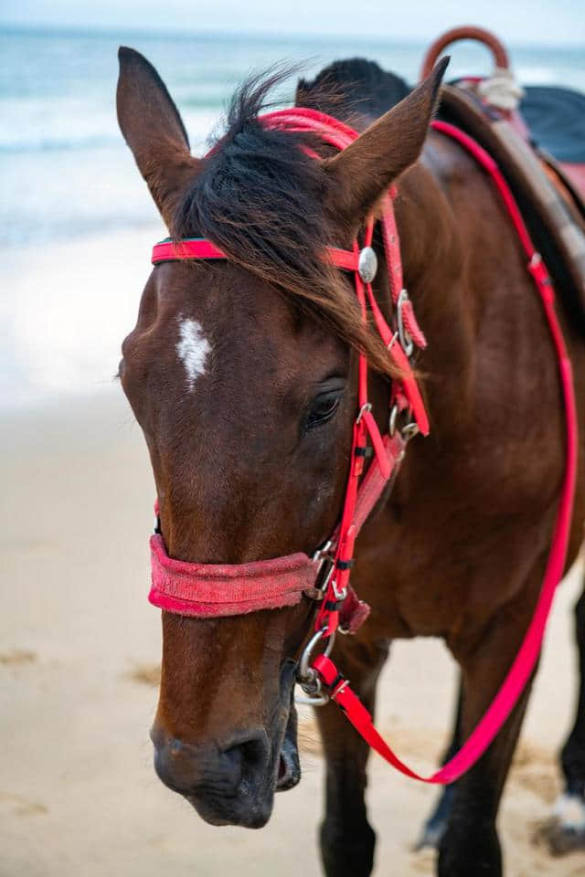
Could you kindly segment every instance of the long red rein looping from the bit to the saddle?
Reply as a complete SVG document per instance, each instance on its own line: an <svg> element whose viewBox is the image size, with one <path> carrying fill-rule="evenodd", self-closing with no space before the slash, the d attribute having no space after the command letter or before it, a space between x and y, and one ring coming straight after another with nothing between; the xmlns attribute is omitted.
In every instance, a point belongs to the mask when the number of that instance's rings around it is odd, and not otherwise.
<svg viewBox="0 0 585 877"><path fill-rule="evenodd" d="M493 158L486 153L478 143L475 143L471 137L468 137L467 134L446 122L432 122L432 127L435 131L446 134L448 137L452 137L453 140L461 143L462 146L473 155L478 164L481 164L484 170L486 170L494 180L498 191L502 195L505 207L512 219L514 227L516 228L522 246L526 251L528 260L527 269L537 285L537 291L540 294L545 309L548 327L558 355L558 369L565 405L565 422L567 426L567 463L560 501L558 504L555 531L548 554L547 569L534 616L527 629L520 650L516 654L516 659L508 671L499 692L495 695L494 701L491 703L487 712L484 714L484 717L479 724L476 725L473 733L464 743L459 752L456 753L446 765L442 766L440 770L432 774L431 777L421 777L420 774L405 765L404 762L399 759L398 755L392 751L381 735L378 734L378 731L372 723L372 717L367 712L366 707L361 703L355 692L351 690L349 683L346 682L339 671L337 671L334 662L330 658L324 654L319 655L314 660L313 668L324 683L332 700L344 710L347 718L351 724L354 725L358 734L366 740L367 744L370 745L372 749L375 749L376 752L378 752L378 755L385 758L390 765L394 766L400 773L405 774L407 777L418 779L423 783L446 784L452 783L459 777L462 777L463 774L466 773L484 754L485 750L495 739L496 734L498 734L502 725L505 723L505 720L514 709L518 698L523 692L524 687L536 666L552 600L558 582L564 571L567 546L569 544L570 523L577 474L577 409L575 405L571 364L554 309L554 291L552 283L548 276L548 271L528 235L527 227L520 215L514 196L508 185L505 183L505 179Z"/></svg>

